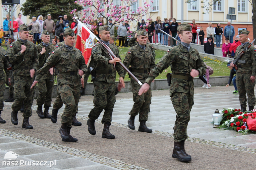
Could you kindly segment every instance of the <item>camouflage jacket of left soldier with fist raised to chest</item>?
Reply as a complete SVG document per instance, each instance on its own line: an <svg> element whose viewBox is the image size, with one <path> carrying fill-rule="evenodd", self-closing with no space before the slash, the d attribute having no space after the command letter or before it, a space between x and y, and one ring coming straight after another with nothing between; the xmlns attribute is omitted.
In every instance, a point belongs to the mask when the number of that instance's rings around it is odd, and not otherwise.
<svg viewBox="0 0 256 170"><path fill-rule="evenodd" d="M26 51L22 54L21 45L26 46ZM13 65L13 74L18 76L30 76L30 69L15 68L16 65L22 63L20 66L32 66L32 69L37 70L38 55L36 50L36 45L33 42L27 41L25 44L18 39L12 42L10 48L7 51L7 56L9 57L10 63Z"/></svg>

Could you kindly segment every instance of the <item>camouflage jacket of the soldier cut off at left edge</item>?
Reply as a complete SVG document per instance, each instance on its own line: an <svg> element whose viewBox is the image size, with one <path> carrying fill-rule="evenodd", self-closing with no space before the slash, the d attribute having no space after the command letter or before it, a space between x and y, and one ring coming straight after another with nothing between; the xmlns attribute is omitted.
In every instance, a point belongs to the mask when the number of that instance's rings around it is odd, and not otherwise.
<svg viewBox="0 0 256 170"><path fill-rule="evenodd" d="M4 80L4 71L5 74L7 75L7 78L10 78L10 71L7 70L9 68L9 62L7 61L6 57L6 52L3 47L0 47L0 80Z"/></svg>

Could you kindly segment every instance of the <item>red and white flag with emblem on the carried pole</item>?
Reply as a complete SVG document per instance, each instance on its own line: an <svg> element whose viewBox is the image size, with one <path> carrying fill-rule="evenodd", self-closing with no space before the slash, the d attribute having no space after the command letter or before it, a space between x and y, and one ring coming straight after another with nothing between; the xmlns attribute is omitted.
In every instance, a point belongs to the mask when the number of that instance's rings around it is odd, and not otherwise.
<svg viewBox="0 0 256 170"><path fill-rule="evenodd" d="M94 45L93 39L95 35L90 34L81 22L77 24L77 38L76 38L76 48L78 48L84 57L85 64L88 63L88 60L92 53L92 47Z"/></svg>

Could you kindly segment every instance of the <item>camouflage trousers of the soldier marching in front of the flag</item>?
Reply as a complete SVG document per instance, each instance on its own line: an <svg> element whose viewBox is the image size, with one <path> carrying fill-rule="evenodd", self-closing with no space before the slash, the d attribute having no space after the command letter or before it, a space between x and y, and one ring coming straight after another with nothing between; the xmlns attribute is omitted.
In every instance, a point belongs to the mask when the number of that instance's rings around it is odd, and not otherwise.
<svg viewBox="0 0 256 170"><path fill-rule="evenodd" d="M80 86L74 87L64 84L59 86L59 94L62 102L65 104L60 122L67 123L67 126L72 127L73 117L76 114L80 98Z"/></svg>

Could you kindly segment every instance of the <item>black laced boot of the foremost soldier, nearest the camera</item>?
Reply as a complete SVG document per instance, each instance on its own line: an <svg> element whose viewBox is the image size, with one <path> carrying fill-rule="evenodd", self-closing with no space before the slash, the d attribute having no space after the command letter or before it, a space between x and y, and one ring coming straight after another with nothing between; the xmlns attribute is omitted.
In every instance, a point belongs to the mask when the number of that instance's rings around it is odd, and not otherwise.
<svg viewBox="0 0 256 170"><path fill-rule="evenodd" d="M180 161L189 162L191 161L191 156L188 155L184 148L184 141L174 142L173 155L172 157L178 158Z"/></svg>

